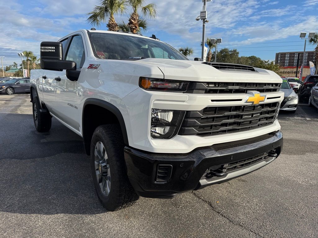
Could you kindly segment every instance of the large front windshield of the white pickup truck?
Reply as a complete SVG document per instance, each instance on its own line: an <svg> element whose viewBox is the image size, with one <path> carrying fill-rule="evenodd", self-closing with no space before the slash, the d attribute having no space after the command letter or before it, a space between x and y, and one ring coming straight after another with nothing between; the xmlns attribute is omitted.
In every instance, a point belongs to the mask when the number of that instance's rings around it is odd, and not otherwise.
<svg viewBox="0 0 318 238"><path fill-rule="evenodd" d="M88 33L96 58L137 60L142 58L189 60L172 46L158 40L112 33Z"/></svg>

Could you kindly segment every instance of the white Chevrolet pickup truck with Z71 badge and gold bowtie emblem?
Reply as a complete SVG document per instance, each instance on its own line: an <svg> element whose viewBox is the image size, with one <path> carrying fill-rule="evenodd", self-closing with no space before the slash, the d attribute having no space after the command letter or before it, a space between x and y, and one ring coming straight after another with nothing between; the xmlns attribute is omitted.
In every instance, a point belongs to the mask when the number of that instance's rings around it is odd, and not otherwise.
<svg viewBox="0 0 318 238"><path fill-rule="evenodd" d="M272 71L190 61L154 36L94 29L42 42L41 68L31 70L34 125L48 131L54 117L83 138L109 211L245 175L283 146Z"/></svg>

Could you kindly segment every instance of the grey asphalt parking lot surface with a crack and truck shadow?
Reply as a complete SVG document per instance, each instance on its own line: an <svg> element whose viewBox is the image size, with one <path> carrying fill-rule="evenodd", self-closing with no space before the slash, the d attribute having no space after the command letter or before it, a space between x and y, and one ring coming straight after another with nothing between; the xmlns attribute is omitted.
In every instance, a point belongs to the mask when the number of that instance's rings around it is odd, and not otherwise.
<svg viewBox="0 0 318 238"><path fill-rule="evenodd" d="M284 149L249 175L105 212L79 136L34 129L30 96L0 95L0 237L317 237L318 112L280 113Z"/></svg>

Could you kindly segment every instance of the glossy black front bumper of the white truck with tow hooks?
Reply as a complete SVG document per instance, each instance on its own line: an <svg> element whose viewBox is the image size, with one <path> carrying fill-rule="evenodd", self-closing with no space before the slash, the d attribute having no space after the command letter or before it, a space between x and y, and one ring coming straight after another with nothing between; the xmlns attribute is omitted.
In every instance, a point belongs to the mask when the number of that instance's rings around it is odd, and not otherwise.
<svg viewBox="0 0 318 238"><path fill-rule="evenodd" d="M138 195L172 198L178 193L226 182L257 170L276 159L282 148L282 134L275 131L247 140L197 148L187 154L149 153L129 147L125 147L124 152L128 178ZM162 171L168 171L167 181L158 179Z"/></svg>

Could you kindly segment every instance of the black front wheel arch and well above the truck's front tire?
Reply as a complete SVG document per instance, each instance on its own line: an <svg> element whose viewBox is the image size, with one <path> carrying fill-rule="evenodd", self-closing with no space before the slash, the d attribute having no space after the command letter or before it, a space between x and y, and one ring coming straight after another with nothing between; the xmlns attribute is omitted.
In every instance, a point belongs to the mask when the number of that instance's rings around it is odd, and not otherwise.
<svg viewBox="0 0 318 238"><path fill-rule="evenodd" d="M98 117L96 117L96 110L100 110ZM113 104L100 99L86 99L82 111L82 136L87 155L90 155L91 139L94 130L100 125L115 123L120 125L124 143L128 145L126 124L120 110Z"/></svg>

